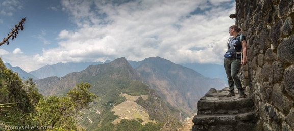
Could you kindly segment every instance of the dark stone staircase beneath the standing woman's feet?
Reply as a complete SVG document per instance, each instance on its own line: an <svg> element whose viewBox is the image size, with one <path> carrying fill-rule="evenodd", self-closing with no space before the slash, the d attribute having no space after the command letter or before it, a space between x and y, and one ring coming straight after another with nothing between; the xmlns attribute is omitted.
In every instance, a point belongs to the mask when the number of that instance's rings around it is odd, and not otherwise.
<svg viewBox="0 0 294 131"><path fill-rule="evenodd" d="M239 99L227 98L228 87L223 90L210 89L197 103L197 115L193 118L192 131L255 130L257 122L254 102L249 96Z"/></svg>

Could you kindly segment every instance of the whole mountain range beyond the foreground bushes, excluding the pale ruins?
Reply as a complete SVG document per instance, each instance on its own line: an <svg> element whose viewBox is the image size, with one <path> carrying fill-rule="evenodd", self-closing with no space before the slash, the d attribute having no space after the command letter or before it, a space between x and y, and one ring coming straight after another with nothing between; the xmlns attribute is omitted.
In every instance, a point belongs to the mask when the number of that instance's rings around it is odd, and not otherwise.
<svg viewBox="0 0 294 131"><path fill-rule="evenodd" d="M6 64L7 67L9 65ZM205 67L202 68L203 72L212 71L215 73L215 68L219 67L215 65L214 70L207 69L211 68L209 66L206 69ZM24 72L19 70L19 67L15 68L11 65L10 69L18 72L18 74ZM113 120L108 118L117 117L113 115L113 112L110 112L112 108L107 105L116 106L126 101L121 97L121 94L138 96L139 99L135 102L148 111L150 118L164 122L165 128L171 128L170 123L177 123L173 120L181 122L184 117L190 117L196 112L197 101L210 88L221 89L226 86L219 78L206 77L193 69L160 57L150 57L139 62L118 58L104 63L58 63L46 65L36 71L24 74L27 75L26 77L48 76L42 79L34 79L39 92L44 96L63 96L76 84L80 82L89 83L92 86L91 92L96 94L99 99L92 104L92 108L83 111L84 115L79 120L80 124L87 130L96 128L103 130L104 126L110 124L103 123L104 120L107 119L111 122ZM22 78L26 77L22 76ZM140 95L147 96L148 99L142 99L142 97L140 99ZM96 111L93 111L93 109ZM124 109L126 111L122 112L145 112L143 109L130 107L130 109ZM125 119L126 116L120 114L118 119ZM135 118L135 116L129 117L127 119ZM97 122L102 124L99 124L98 127ZM173 124L172 126L176 125Z"/></svg>

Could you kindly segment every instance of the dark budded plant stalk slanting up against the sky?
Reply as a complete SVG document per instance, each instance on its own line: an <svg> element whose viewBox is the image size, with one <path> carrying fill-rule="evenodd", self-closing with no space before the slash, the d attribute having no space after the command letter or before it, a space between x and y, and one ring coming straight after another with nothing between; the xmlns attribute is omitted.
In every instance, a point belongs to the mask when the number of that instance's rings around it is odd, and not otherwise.
<svg viewBox="0 0 294 131"><path fill-rule="evenodd" d="M19 21L18 25L15 25L15 28L14 29L11 29L12 32L9 32L8 33L8 36L6 38L3 38L3 41L0 43L0 46L7 43L7 45L9 45L9 39L12 37L11 40L13 40L14 38L16 38L17 34L18 34L18 31L19 30L23 30L23 24L24 24L24 21L26 21L26 17L22 18L21 21Z"/></svg>

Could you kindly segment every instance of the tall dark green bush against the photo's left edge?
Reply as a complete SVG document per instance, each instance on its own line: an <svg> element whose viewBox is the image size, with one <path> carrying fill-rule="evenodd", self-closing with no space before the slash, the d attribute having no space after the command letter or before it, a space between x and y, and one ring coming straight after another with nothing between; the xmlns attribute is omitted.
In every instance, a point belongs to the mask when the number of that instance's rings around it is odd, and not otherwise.
<svg viewBox="0 0 294 131"><path fill-rule="evenodd" d="M27 118L41 97L32 79L22 82L0 58L0 124L28 125Z"/></svg>

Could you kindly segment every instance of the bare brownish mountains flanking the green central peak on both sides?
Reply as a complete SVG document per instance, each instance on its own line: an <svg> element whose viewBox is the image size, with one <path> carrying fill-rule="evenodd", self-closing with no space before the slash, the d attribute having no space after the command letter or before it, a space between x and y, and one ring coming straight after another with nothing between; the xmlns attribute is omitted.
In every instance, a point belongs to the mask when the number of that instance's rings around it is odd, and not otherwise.
<svg viewBox="0 0 294 131"><path fill-rule="evenodd" d="M143 81L171 107L181 110L187 116L196 111L197 105L195 102L200 99L200 96L206 94L210 88L222 89L226 86L219 78L205 77L192 69L160 57L150 57L140 62L128 61L129 63L131 63L130 67L132 65L131 68L135 69L140 76L136 78L137 80ZM90 68L102 65L90 65L81 72L69 73L63 77L39 79L36 81L37 87L43 95L62 95L70 89L69 87L74 87L82 80L85 82L96 81L90 76L85 77L82 73L92 74L89 71ZM99 68L99 70L103 71L104 69Z"/></svg>

